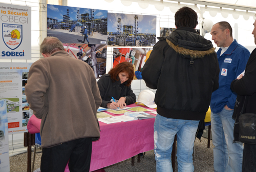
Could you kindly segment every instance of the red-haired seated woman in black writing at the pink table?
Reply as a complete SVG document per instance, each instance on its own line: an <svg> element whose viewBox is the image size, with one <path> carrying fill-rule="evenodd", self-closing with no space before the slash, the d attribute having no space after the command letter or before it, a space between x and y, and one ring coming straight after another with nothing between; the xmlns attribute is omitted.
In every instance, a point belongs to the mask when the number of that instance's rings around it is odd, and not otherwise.
<svg viewBox="0 0 256 172"><path fill-rule="evenodd" d="M131 89L134 77L133 65L124 61L112 68L108 74L102 75L98 80L101 107L117 109L136 102L136 95ZM117 102L111 101L112 97Z"/></svg>

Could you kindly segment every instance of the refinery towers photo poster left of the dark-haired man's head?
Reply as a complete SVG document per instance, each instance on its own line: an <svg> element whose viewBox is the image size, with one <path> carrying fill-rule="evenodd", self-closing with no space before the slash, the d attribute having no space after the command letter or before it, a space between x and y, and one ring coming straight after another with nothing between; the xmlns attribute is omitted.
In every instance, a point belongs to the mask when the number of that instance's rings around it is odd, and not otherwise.
<svg viewBox="0 0 256 172"><path fill-rule="evenodd" d="M108 45L154 46L156 21L154 15L108 13Z"/></svg>

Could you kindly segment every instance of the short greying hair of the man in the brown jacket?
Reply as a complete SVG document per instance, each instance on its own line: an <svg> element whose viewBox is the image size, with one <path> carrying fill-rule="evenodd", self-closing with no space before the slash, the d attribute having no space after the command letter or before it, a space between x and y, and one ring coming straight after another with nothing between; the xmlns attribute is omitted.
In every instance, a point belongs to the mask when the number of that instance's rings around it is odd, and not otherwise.
<svg viewBox="0 0 256 172"><path fill-rule="evenodd" d="M40 45L40 53L52 54L56 51L65 51L62 42L53 36L48 36Z"/></svg>

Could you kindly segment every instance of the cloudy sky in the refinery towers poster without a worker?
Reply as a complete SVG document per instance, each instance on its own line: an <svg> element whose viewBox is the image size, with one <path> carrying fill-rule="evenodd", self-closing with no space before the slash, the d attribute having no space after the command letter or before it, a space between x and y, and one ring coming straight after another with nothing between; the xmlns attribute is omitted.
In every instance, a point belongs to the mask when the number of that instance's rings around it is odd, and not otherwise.
<svg viewBox="0 0 256 172"><path fill-rule="evenodd" d="M118 18L121 18L121 25L135 25L134 16L137 14L108 13L108 32L117 32ZM156 33L156 19L154 15L137 15L138 33ZM121 28L121 31L123 29Z"/></svg>

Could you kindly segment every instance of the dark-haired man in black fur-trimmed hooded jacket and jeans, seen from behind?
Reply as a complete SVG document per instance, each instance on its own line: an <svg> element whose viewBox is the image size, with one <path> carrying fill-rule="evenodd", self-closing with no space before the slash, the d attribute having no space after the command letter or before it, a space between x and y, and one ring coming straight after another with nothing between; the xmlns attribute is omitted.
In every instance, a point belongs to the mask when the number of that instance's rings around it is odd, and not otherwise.
<svg viewBox="0 0 256 172"><path fill-rule="evenodd" d="M211 41L197 34L197 13L188 7L175 14L177 29L159 41L142 69L147 87L157 89L154 125L157 171L173 171L170 155L178 141L178 169L194 171L193 147L212 91L219 87L219 63Z"/></svg>

